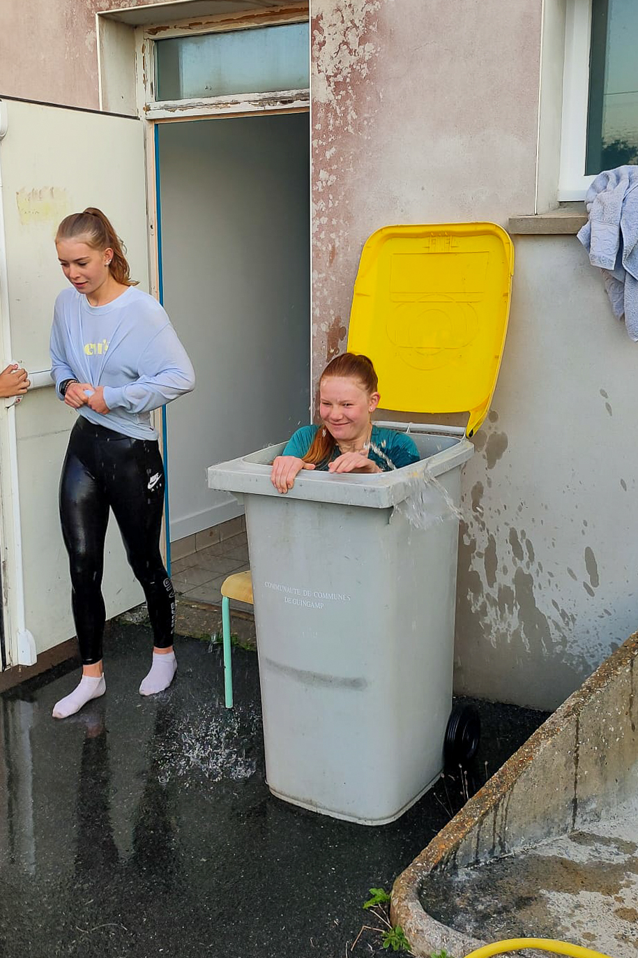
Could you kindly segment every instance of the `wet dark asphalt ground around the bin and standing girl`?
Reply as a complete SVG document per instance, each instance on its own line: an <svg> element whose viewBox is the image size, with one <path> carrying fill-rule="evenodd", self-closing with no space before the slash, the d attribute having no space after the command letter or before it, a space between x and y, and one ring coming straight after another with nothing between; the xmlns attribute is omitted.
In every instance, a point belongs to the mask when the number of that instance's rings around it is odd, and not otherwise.
<svg viewBox="0 0 638 958"><path fill-rule="evenodd" d="M160 696L138 694L147 627L110 624L107 693L51 719L76 669L0 696L3 958L342 958L372 886L388 891L545 718L479 703L469 779L439 782L399 822L366 828L286 805L264 784L257 656L235 650L223 707L220 649L181 640ZM291 717L291 720L292 717ZM387 955L365 932L353 958Z"/></svg>

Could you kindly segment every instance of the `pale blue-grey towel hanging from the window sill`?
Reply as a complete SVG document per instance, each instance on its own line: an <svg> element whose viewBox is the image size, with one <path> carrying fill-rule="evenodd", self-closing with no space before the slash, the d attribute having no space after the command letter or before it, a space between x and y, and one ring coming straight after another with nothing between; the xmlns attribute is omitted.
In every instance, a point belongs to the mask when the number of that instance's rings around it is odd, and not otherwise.
<svg viewBox="0 0 638 958"><path fill-rule="evenodd" d="M638 342L638 166L599 173L585 195L589 221L578 239L589 262L603 270L604 288L618 319Z"/></svg>

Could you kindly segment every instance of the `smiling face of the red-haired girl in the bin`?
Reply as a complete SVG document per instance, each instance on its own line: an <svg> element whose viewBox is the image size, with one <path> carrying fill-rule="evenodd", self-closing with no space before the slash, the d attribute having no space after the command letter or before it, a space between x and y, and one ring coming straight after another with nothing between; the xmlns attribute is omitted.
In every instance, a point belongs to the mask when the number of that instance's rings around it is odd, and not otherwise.
<svg viewBox="0 0 638 958"><path fill-rule="evenodd" d="M378 393L369 393L352 376L324 376L319 386L319 415L337 443L367 439Z"/></svg>

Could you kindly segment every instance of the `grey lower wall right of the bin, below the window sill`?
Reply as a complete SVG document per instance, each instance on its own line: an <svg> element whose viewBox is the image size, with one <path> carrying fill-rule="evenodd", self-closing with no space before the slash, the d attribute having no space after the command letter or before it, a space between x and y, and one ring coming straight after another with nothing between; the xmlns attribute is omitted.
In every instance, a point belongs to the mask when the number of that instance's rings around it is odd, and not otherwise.
<svg viewBox="0 0 638 958"><path fill-rule="evenodd" d="M515 247L464 472L455 675L459 692L551 708L636 626L638 353L575 237Z"/></svg>

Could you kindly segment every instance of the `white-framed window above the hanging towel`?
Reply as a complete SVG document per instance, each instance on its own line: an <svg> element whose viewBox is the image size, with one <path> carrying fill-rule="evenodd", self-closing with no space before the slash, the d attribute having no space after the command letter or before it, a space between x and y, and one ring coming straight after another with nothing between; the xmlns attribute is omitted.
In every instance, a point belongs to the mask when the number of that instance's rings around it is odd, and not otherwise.
<svg viewBox="0 0 638 958"><path fill-rule="evenodd" d="M602 170L638 163L636 0L568 0L559 200Z"/></svg>

